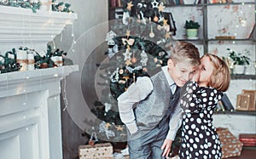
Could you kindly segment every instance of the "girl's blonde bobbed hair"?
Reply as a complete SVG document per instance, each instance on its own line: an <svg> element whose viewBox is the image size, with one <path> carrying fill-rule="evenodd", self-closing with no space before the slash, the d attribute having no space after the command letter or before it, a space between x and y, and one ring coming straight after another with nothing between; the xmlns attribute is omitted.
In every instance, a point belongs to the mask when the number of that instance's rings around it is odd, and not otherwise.
<svg viewBox="0 0 256 159"><path fill-rule="evenodd" d="M207 56L212 61L214 67L208 85L219 91L226 91L230 86L230 69L228 65L217 55L204 54L202 57L204 56Z"/></svg>

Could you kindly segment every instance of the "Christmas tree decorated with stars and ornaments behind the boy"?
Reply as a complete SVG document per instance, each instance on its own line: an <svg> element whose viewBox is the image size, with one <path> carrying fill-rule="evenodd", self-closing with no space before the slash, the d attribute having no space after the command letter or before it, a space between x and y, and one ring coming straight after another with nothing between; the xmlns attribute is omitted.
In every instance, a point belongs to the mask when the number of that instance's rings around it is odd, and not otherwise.
<svg viewBox="0 0 256 159"><path fill-rule="evenodd" d="M102 120L92 124L97 139L122 141L126 129L120 121L117 98L137 77L149 76L158 67L166 65L175 43L172 35L176 28L171 13L164 13L160 0L124 0L123 18L109 22L106 36L109 60L99 64L102 88L101 101L96 101L91 111ZM89 121L84 121L89 122Z"/></svg>

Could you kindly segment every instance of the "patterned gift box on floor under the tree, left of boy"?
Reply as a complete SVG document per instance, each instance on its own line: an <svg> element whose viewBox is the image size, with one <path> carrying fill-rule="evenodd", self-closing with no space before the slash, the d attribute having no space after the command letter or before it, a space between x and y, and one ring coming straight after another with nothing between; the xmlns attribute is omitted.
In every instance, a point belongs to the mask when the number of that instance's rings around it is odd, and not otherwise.
<svg viewBox="0 0 256 159"><path fill-rule="evenodd" d="M113 159L113 146L110 143L79 145L79 159Z"/></svg>

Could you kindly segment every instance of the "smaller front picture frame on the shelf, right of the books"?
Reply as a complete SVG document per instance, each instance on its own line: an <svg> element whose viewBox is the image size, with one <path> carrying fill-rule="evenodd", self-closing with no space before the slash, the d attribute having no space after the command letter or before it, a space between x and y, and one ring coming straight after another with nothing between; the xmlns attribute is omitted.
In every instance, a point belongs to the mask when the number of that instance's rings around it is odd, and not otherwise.
<svg viewBox="0 0 256 159"><path fill-rule="evenodd" d="M249 94L238 94L236 99L236 110L248 111L250 102Z"/></svg>

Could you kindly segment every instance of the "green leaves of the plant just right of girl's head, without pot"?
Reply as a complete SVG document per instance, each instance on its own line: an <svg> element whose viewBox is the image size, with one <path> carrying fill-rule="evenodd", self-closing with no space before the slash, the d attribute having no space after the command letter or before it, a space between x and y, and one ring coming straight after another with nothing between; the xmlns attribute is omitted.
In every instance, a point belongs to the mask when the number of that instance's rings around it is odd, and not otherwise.
<svg viewBox="0 0 256 159"><path fill-rule="evenodd" d="M234 65L249 65L250 58L248 58L245 54L248 54L249 51L246 50L246 53L236 53L234 50L227 48L228 51L230 51L230 59L233 60Z"/></svg>

